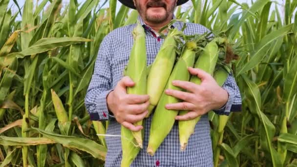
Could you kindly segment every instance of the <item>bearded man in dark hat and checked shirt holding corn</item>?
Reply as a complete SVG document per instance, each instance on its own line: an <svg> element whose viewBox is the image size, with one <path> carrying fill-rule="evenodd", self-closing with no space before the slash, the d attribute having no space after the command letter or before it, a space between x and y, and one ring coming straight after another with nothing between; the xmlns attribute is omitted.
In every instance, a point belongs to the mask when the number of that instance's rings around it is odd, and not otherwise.
<svg viewBox="0 0 297 167"><path fill-rule="evenodd" d="M136 8L140 14L138 20L146 32L148 65L153 63L164 39L158 35L161 27L170 22L176 5L188 0L120 0L130 8ZM181 30L182 22L175 22L173 27ZM143 127L133 123L144 119L148 112L148 95L127 94L127 87L134 83L123 77L131 47L133 45L132 30L135 24L127 25L110 32L101 43L94 74L85 97L85 106L91 120L110 120L106 136L108 147L106 167L119 167L122 157L120 126L124 125L133 131ZM184 33L203 34L209 31L200 24L187 23ZM177 116L176 120L190 120L202 116L195 127L185 151L180 151L178 122L157 149L154 156L146 152L151 116L145 119L144 149L132 163L132 167L212 167L212 142L207 112L214 110L218 114L229 114L241 108L241 97L232 74L220 87L211 75L200 70L189 68L191 75L202 79L202 84L175 81L174 85L189 92L166 90L170 96L184 100L182 103L167 104L168 109L191 110L186 115Z"/></svg>

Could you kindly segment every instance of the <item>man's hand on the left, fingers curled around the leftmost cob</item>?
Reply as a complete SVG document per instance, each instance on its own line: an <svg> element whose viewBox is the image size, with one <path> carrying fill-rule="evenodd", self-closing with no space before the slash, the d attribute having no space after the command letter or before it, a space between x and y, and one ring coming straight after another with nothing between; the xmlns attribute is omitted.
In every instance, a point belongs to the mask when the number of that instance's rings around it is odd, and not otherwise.
<svg viewBox="0 0 297 167"><path fill-rule="evenodd" d="M139 131L141 125L133 125L145 118L148 113L149 96L127 94L127 87L134 86L134 82L129 77L123 77L107 97L107 107L115 119L123 126L132 131Z"/></svg>

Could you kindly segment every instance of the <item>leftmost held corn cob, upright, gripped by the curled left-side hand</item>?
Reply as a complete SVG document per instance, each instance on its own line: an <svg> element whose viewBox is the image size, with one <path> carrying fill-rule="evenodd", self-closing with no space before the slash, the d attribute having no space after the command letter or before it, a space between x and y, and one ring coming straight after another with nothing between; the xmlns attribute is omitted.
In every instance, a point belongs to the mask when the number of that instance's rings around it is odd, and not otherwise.
<svg viewBox="0 0 297 167"><path fill-rule="evenodd" d="M144 28L139 22L133 29L134 43L131 49L129 62L125 75L130 77L135 83L133 87L127 88L128 94L147 94L147 49L146 49L146 36ZM143 121L139 121L134 125L142 125ZM132 132L121 127L121 142L122 142L122 167L129 167L132 161L135 159L139 152L139 148L142 148L142 131ZM135 139L135 140L134 140ZM135 142L137 144L135 144Z"/></svg>

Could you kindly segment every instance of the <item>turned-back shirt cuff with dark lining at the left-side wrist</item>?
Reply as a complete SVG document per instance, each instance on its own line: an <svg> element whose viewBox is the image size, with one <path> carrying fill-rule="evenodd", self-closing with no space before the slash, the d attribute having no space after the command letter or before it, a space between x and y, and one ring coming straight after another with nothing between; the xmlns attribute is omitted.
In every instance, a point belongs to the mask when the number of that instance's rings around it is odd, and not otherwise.
<svg viewBox="0 0 297 167"><path fill-rule="evenodd" d="M98 96L97 104L96 104L97 112L90 113L91 121L106 121L106 120L110 120L110 118L114 118L108 111L107 102L106 102L106 97L112 90L113 89L104 91Z"/></svg>

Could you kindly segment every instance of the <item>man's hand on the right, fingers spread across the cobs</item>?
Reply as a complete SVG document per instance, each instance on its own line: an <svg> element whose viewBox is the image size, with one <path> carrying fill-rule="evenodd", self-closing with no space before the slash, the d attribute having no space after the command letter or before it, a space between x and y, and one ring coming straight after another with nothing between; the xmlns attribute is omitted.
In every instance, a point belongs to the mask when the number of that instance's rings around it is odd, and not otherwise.
<svg viewBox="0 0 297 167"><path fill-rule="evenodd" d="M172 110L188 110L185 115L176 116L176 120L191 120L201 116L212 109L219 109L227 103L229 94L219 86L213 77L207 72L189 67L191 75L201 79L201 84L194 84L187 81L172 81L172 85L181 87L185 91L167 89L165 93L183 100L180 103L167 104L165 107Z"/></svg>

